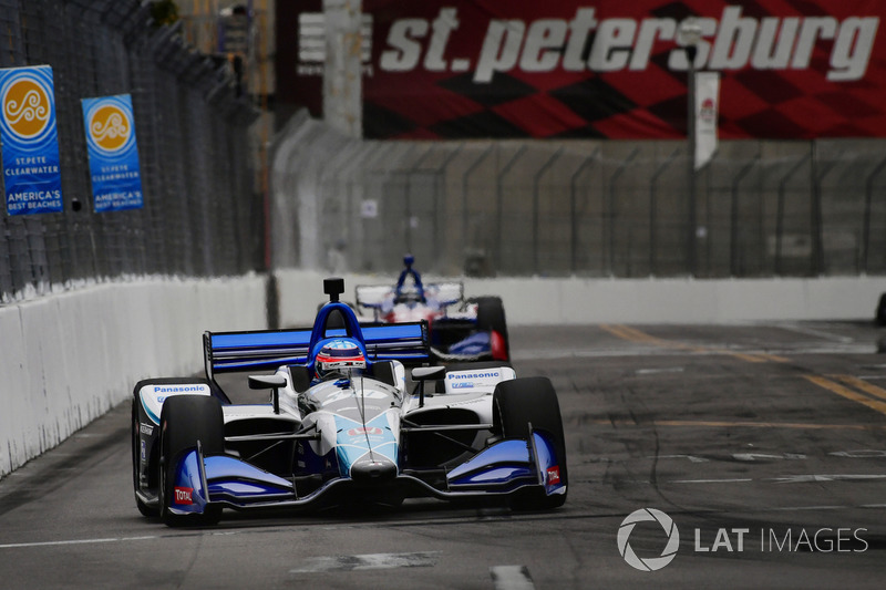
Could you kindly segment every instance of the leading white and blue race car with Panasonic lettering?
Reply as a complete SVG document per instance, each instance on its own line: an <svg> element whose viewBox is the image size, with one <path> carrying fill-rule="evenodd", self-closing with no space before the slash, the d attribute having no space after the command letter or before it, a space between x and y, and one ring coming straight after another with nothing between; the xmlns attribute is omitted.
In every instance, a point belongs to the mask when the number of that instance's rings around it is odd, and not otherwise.
<svg viewBox="0 0 886 590"><path fill-rule="evenodd" d="M429 359L426 322L361 328L338 300L343 281L328 279L324 291L312 328L206 332L206 379L135 385L143 515L175 526L215 524L224 508L409 497L563 505L566 447L550 381L517 379L507 363L416 366L409 391L403 363ZM269 398L233 404L222 375Z"/></svg>

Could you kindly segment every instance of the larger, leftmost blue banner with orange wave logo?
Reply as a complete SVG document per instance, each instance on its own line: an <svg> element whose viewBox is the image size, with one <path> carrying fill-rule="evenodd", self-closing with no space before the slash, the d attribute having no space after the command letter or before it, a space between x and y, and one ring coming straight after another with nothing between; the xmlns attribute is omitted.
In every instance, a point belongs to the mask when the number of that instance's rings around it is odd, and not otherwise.
<svg viewBox="0 0 886 590"><path fill-rule="evenodd" d="M52 68L0 70L0 105L7 213L62 211Z"/></svg>

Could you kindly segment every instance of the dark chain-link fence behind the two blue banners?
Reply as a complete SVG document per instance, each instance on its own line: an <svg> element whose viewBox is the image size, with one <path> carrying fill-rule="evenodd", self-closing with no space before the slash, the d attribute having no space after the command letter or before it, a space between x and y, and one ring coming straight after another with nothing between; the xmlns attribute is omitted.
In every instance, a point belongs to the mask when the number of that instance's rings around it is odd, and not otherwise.
<svg viewBox="0 0 886 590"><path fill-rule="evenodd" d="M0 216L3 302L121 276L262 268L258 112L228 69L156 27L148 2L0 0L0 68L40 64L53 70L64 213ZM124 93L144 208L96 214L80 101Z"/></svg>

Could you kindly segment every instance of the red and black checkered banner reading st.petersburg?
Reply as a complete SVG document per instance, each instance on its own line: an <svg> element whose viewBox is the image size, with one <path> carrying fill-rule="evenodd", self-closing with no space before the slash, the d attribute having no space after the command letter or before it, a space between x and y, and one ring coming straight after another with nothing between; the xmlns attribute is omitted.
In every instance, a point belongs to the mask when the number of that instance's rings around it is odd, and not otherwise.
<svg viewBox="0 0 886 590"><path fill-rule="evenodd" d="M278 100L319 115L322 55L310 34L322 30L321 2L278 4L290 32L282 44L278 34ZM701 28L696 70L721 75L721 138L886 136L886 2L363 0L362 9L367 138L684 137L679 32L690 18Z"/></svg>

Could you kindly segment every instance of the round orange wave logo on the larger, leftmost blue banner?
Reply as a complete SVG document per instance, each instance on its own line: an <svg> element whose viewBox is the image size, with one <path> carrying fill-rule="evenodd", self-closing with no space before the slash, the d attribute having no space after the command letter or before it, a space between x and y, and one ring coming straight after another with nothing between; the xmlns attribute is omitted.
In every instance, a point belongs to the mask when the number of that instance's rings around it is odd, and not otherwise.
<svg viewBox="0 0 886 590"><path fill-rule="evenodd" d="M19 139L40 136L52 118L52 99L42 80L29 72L14 76L2 89L3 122Z"/></svg>

